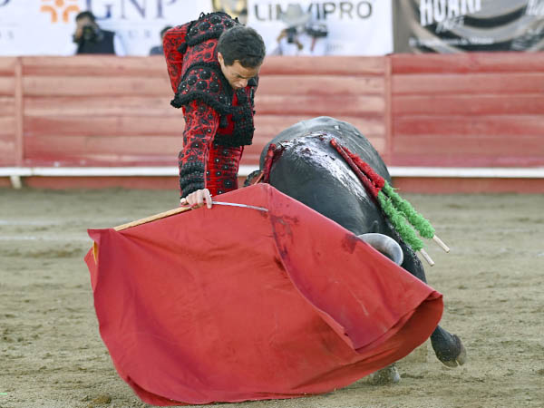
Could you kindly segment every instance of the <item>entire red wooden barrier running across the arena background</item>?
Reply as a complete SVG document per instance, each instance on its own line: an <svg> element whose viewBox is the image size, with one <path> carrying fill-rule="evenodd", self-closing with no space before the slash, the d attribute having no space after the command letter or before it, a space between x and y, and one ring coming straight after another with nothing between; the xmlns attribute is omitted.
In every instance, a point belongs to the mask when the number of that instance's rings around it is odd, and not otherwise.
<svg viewBox="0 0 544 408"><path fill-rule="evenodd" d="M389 166L544 166L544 53L269 57L242 164L296 121L353 123ZM175 166L161 57L0 58L0 167Z"/></svg>

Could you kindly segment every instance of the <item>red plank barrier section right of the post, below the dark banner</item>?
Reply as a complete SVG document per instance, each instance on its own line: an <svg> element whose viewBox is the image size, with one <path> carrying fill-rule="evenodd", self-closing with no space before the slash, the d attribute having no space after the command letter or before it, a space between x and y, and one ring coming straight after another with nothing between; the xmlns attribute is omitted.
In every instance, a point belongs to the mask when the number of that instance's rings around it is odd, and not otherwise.
<svg viewBox="0 0 544 408"><path fill-rule="evenodd" d="M393 165L544 165L544 53L391 59Z"/></svg>

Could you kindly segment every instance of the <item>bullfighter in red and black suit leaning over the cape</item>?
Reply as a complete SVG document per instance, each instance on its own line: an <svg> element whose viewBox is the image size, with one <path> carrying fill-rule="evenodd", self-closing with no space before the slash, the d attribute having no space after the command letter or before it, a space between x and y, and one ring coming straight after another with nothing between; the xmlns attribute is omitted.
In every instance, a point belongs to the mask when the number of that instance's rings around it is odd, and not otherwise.
<svg viewBox="0 0 544 408"><path fill-rule="evenodd" d="M201 14L163 38L185 131L179 155L180 202L191 207L238 188L244 146L251 144L254 95L266 48L252 28L225 13Z"/></svg>

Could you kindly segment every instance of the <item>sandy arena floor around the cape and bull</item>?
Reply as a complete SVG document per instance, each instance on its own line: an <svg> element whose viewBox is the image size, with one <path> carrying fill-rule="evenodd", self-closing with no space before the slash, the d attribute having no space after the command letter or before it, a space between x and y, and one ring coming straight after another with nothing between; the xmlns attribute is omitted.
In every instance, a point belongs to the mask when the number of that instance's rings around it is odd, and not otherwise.
<svg viewBox="0 0 544 408"><path fill-rule="evenodd" d="M468 363L401 362L400 384L365 379L334 393L229 404L244 408L543 407L544 196L403 195L430 219L430 285L442 326ZM148 407L116 374L98 333L83 256L86 228L177 206L177 192L0 189L0 407ZM424 351L424 347L423 347ZM426 360L426 361L425 361Z"/></svg>

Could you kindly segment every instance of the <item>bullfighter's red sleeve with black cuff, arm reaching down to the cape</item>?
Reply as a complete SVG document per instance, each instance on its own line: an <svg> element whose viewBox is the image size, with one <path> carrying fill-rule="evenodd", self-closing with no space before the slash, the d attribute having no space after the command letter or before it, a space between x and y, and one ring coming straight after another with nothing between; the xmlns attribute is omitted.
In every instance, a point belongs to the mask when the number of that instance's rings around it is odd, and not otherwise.
<svg viewBox="0 0 544 408"><path fill-rule="evenodd" d="M219 114L209 105L192 101L184 106L185 131L180 151L180 197L206 188L209 148L219 127Z"/></svg>

